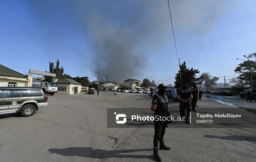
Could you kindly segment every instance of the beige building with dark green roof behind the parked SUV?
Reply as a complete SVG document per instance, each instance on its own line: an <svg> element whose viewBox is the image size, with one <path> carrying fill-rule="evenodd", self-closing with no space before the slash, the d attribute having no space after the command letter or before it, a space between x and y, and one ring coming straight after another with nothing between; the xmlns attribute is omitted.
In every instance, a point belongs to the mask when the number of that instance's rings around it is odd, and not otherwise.
<svg viewBox="0 0 256 162"><path fill-rule="evenodd" d="M32 75L23 75L0 65L0 87L32 87Z"/></svg>

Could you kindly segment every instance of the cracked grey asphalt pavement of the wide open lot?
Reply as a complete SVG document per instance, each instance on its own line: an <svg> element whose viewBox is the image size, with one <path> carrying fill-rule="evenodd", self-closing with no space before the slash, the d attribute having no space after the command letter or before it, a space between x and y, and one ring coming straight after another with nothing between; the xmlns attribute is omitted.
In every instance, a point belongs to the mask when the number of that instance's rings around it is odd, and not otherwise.
<svg viewBox="0 0 256 162"><path fill-rule="evenodd" d="M48 107L23 118L16 113L0 115L0 157L3 162L148 162L154 161L154 128L107 128L107 108L145 108L148 94L100 91L99 96L54 95ZM198 112L255 114L209 99L198 101ZM179 114L178 102L169 111ZM192 117L195 116L193 112ZM256 161L255 128L181 128L169 124L163 162Z"/></svg>

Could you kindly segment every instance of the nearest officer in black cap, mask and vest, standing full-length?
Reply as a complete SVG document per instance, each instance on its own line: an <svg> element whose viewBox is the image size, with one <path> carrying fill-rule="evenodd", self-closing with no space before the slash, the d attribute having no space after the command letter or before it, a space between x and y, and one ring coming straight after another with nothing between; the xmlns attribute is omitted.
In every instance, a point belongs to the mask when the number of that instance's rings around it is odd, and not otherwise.
<svg viewBox="0 0 256 162"><path fill-rule="evenodd" d="M160 84L158 86L158 93L154 95L152 104L151 104L151 110L154 111L154 117L160 119L161 117L168 117L169 111L168 111L168 98L165 94L166 92L166 85ZM159 120L154 121L154 158L160 162L161 158L158 154L158 143L160 143L160 150L170 150L171 148L166 146L163 142L163 136L165 134L165 130L167 127L167 121Z"/></svg>

